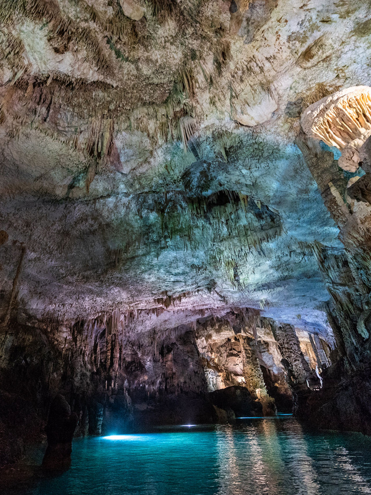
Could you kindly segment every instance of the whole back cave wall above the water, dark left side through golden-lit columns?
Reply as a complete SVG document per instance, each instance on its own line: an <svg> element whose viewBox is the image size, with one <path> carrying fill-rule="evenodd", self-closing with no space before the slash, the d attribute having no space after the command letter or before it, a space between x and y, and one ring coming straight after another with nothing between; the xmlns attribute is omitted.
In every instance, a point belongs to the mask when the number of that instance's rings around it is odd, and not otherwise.
<svg viewBox="0 0 371 495"><path fill-rule="evenodd" d="M219 402L210 395L226 388L245 391L251 414L275 414L276 403L290 412L290 370L264 321L248 308L141 332L133 332L134 313L117 310L63 324L12 320L0 334L1 462L43 437L57 394L79 417L77 435L232 420L229 401L243 410L239 393ZM295 351L303 364L299 344Z"/></svg>

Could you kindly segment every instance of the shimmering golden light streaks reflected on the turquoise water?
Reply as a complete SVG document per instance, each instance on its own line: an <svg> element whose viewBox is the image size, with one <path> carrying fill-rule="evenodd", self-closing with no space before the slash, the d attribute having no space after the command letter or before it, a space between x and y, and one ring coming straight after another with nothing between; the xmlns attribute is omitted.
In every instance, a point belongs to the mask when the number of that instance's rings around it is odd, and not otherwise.
<svg viewBox="0 0 371 495"><path fill-rule="evenodd" d="M320 485L300 424L291 420L283 433L278 435L277 422L268 419L237 432L219 427L218 495L317 495Z"/></svg>

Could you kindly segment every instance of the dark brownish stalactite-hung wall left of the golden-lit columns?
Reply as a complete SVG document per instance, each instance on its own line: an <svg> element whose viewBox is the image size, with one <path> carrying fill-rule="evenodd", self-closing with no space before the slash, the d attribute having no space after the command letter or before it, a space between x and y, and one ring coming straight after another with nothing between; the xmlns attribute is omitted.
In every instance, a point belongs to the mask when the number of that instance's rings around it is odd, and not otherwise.
<svg viewBox="0 0 371 495"><path fill-rule="evenodd" d="M126 335L115 316L68 327L14 324L1 333L1 462L40 441L57 394L79 417L77 435L213 420L192 330Z"/></svg>

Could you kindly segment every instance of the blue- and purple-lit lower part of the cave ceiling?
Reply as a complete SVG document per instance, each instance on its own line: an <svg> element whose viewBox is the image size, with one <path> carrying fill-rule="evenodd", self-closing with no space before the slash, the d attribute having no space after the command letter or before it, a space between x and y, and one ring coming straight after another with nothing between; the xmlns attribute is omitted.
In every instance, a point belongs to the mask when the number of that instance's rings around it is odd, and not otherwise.
<svg viewBox="0 0 371 495"><path fill-rule="evenodd" d="M326 331L328 293L311 245L340 247L338 229L299 149L272 132L263 139L234 129L224 140L225 156L212 136L193 139L197 159L167 147L168 159L131 180L120 177L109 197L96 197L93 184L92 198L4 197L9 290L14 241L27 249L20 309L94 317L162 309L165 293L170 314L250 306Z"/></svg>

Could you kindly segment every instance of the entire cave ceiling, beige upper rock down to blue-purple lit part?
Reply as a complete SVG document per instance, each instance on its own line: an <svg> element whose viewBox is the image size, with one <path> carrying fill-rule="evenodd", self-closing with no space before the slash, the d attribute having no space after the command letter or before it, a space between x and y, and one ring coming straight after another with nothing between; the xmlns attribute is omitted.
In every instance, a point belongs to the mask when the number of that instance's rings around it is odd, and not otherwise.
<svg viewBox="0 0 371 495"><path fill-rule="evenodd" d="M369 1L1 0L1 303L23 244L38 317L325 329L312 247L342 245L295 138L370 84L370 33Z"/></svg>

